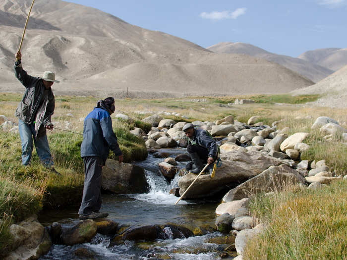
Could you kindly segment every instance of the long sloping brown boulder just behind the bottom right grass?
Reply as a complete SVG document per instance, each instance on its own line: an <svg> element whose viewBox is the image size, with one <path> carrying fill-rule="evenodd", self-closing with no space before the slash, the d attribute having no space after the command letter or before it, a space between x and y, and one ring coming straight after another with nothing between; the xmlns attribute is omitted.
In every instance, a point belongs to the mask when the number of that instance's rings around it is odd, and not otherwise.
<svg viewBox="0 0 347 260"><path fill-rule="evenodd" d="M289 183L304 183L303 177L287 165L271 166L261 174L231 189L223 202L248 198L251 194L282 190Z"/></svg>

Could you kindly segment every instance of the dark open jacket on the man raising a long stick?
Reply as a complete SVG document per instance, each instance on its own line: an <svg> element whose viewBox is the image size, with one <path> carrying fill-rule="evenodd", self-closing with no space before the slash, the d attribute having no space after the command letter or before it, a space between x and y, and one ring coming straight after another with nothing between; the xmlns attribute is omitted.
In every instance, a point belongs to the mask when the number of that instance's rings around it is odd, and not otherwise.
<svg viewBox="0 0 347 260"><path fill-rule="evenodd" d="M55 98L52 89L47 90L41 78L32 77L22 68L22 64L15 64L16 78L26 88L15 115L26 124L35 122L36 138L46 135L45 126L51 124L54 113Z"/></svg>

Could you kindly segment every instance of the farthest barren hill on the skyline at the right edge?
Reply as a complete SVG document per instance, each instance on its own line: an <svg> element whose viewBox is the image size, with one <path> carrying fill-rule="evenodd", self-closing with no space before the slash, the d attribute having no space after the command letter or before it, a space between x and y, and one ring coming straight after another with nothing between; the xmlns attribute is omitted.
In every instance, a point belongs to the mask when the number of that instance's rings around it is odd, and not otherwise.
<svg viewBox="0 0 347 260"><path fill-rule="evenodd" d="M347 48L325 48L304 52L299 58L337 71L347 65Z"/></svg>

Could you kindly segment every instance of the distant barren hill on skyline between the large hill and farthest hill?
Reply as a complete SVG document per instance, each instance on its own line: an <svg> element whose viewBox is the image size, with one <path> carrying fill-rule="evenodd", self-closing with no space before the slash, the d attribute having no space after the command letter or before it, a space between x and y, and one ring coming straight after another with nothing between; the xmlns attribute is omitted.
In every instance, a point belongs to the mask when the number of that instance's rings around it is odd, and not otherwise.
<svg viewBox="0 0 347 260"><path fill-rule="evenodd" d="M318 82L328 75L334 73L334 70L319 64L314 64L309 60L267 52L251 44L227 42L210 46L207 49L217 53L243 53L246 55L263 58L285 66L286 68L299 73L313 82Z"/></svg>

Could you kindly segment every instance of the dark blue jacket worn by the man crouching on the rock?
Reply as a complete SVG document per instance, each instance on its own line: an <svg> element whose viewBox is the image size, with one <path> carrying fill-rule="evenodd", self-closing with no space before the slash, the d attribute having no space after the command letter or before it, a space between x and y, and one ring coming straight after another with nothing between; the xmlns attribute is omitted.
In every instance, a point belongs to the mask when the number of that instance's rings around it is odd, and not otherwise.
<svg viewBox="0 0 347 260"><path fill-rule="evenodd" d="M188 138L188 144L202 146L209 151L209 156L217 158L218 145L213 137L203 129L195 129L192 139Z"/></svg>

